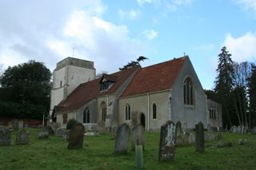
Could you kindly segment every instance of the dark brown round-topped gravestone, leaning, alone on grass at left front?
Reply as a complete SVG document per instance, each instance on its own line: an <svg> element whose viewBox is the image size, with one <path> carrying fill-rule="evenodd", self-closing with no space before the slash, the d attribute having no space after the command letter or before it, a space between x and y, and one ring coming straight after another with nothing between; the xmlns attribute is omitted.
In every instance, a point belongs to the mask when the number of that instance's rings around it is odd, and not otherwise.
<svg viewBox="0 0 256 170"><path fill-rule="evenodd" d="M67 148L82 148L85 127L82 123L75 123L70 129L70 139Z"/></svg>

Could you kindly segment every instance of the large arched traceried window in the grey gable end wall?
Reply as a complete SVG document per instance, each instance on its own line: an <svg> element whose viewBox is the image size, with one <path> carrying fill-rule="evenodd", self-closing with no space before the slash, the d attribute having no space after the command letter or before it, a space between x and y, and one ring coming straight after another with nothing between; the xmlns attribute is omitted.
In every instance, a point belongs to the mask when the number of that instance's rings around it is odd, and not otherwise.
<svg viewBox="0 0 256 170"><path fill-rule="evenodd" d="M194 105L194 85L190 77L183 84L183 97L185 105Z"/></svg>

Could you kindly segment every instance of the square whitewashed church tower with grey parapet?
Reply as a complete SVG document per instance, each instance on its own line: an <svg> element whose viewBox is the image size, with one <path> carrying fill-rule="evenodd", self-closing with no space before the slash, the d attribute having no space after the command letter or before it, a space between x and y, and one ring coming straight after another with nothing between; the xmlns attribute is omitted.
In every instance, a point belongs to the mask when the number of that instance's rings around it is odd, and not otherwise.
<svg viewBox="0 0 256 170"><path fill-rule="evenodd" d="M50 115L54 106L65 100L78 85L94 80L96 70L93 61L66 57L57 63L53 76L53 89L50 93Z"/></svg>

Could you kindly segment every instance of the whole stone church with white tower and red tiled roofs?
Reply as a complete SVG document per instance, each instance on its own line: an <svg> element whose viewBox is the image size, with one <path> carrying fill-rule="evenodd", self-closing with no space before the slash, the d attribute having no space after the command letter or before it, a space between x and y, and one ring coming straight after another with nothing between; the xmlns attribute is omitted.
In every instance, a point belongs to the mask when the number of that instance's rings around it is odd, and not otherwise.
<svg viewBox="0 0 256 170"><path fill-rule="evenodd" d="M122 123L158 130L168 120L187 128L199 121L222 126L210 121L206 94L188 56L95 77L92 61L67 57L58 62L50 101L54 121L66 126L74 118L100 130Z"/></svg>

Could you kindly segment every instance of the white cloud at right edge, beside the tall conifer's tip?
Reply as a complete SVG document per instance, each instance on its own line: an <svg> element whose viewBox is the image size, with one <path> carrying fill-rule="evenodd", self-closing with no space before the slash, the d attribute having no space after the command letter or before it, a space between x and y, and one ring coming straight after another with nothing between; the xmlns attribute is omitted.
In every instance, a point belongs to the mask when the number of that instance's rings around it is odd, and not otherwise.
<svg viewBox="0 0 256 170"><path fill-rule="evenodd" d="M224 45L232 54L234 61L251 61L256 57L256 34L249 32L239 38L226 34Z"/></svg>

